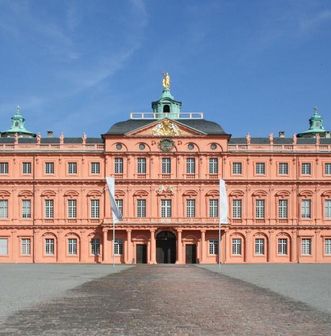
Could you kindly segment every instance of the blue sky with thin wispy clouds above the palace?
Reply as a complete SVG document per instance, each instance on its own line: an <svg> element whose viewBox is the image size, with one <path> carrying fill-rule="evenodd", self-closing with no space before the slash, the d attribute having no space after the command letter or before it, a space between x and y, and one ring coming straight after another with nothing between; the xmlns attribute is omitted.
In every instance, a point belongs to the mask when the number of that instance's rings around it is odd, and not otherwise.
<svg viewBox="0 0 331 336"><path fill-rule="evenodd" d="M234 136L331 129L331 1L0 0L1 130L99 136L150 111L162 73L183 111Z"/></svg>

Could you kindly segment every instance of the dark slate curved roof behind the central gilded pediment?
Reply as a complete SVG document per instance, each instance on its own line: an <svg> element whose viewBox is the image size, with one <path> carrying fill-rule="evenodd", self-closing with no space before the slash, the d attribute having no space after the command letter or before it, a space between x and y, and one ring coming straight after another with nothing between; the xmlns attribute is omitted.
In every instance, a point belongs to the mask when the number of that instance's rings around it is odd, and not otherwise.
<svg viewBox="0 0 331 336"><path fill-rule="evenodd" d="M155 123L155 119L129 119L115 123L107 133L111 135L122 135L127 132L139 129L149 124ZM217 123L205 119L175 119L180 124L194 128L208 135L228 135Z"/></svg>

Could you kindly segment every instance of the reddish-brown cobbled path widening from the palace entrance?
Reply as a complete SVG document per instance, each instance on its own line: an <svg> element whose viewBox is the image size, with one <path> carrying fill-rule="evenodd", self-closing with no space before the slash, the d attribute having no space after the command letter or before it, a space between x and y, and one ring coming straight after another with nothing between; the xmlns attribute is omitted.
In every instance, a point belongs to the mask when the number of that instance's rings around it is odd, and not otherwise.
<svg viewBox="0 0 331 336"><path fill-rule="evenodd" d="M137 266L22 310L0 335L330 335L331 315L194 266Z"/></svg>

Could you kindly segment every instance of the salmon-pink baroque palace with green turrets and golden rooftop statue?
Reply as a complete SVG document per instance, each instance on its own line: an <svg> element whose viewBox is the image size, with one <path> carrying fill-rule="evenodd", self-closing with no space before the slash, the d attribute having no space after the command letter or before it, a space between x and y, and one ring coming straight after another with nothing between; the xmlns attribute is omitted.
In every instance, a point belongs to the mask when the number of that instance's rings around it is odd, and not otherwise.
<svg viewBox="0 0 331 336"><path fill-rule="evenodd" d="M166 78L167 79L167 78ZM0 262L331 262L331 138L315 110L293 137L231 137L181 112L168 82L150 113L100 138L29 132L18 109L0 138ZM123 220L112 234L106 177Z"/></svg>

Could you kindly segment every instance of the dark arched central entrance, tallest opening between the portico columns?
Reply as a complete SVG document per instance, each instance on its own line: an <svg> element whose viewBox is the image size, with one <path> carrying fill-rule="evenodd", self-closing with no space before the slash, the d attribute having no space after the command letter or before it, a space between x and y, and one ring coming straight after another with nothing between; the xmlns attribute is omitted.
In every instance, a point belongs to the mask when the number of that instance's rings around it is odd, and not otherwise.
<svg viewBox="0 0 331 336"><path fill-rule="evenodd" d="M161 231L156 236L156 262L158 264L176 262L176 236L170 231Z"/></svg>

